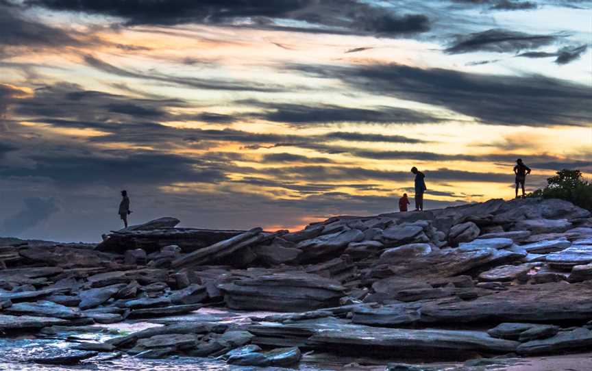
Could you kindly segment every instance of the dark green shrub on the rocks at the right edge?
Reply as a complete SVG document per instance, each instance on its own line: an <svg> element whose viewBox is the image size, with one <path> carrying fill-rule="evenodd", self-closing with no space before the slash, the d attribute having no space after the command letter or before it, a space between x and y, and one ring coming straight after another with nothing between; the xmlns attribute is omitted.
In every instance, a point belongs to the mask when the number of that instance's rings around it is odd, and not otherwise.
<svg viewBox="0 0 592 371"><path fill-rule="evenodd" d="M562 199L592 211L592 183L584 180L580 170L560 170L554 177L547 178L545 188L528 196Z"/></svg>

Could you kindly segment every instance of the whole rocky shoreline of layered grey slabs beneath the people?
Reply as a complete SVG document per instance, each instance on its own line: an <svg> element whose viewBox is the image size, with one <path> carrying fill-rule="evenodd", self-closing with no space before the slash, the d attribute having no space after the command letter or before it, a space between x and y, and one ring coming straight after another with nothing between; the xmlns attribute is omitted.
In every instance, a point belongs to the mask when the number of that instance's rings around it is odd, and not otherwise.
<svg viewBox="0 0 592 371"><path fill-rule="evenodd" d="M592 344L592 218L566 201L340 216L293 233L178 223L153 220L97 246L1 246L3 337L69 334L66 348L23 359L32 363L336 357L388 370L478 370ZM249 319L196 316L203 308ZM159 325L101 341L73 335L134 321Z"/></svg>

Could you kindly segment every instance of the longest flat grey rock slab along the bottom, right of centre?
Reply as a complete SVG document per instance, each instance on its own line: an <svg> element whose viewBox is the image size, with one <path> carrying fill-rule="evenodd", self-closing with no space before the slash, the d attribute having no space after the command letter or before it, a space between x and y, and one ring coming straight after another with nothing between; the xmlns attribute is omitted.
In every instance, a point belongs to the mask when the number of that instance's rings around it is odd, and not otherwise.
<svg viewBox="0 0 592 371"><path fill-rule="evenodd" d="M336 331L319 331L310 337L308 344L323 348L337 346L341 349L367 346L393 353L437 353L445 350L509 353L515 351L519 345L518 342L495 339L481 331L384 329L360 325L351 325Z"/></svg>

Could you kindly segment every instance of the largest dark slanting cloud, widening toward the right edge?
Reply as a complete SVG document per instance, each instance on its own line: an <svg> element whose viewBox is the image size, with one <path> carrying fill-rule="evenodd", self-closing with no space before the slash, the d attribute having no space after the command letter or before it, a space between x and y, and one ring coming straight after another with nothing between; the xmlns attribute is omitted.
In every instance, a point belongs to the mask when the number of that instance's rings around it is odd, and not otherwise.
<svg viewBox="0 0 592 371"><path fill-rule="evenodd" d="M399 64L288 68L340 79L353 89L447 107L485 124L590 125L592 89L541 75L482 75Z"/></svg>

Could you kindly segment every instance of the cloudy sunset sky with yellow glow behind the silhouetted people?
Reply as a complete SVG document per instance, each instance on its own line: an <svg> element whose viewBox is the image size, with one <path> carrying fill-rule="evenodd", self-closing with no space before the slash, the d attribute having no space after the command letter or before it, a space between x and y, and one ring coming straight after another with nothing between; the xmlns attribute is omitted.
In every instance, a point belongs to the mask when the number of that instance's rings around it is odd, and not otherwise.
<svg viewBox="0 0 592 371"><path fill-rule="evenodd" d="M592 0L0 0L0 235L300 229L592 176Z"/></svg>

